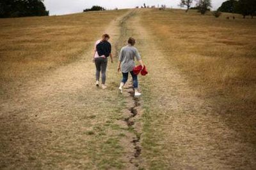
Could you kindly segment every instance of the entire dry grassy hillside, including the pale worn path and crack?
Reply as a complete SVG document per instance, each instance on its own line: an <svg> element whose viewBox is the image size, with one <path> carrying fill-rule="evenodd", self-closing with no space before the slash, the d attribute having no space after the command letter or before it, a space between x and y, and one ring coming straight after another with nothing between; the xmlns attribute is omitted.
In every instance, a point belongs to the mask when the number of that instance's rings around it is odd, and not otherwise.
<svg viewBox="0 0 256 170"><path fill-rule="evenodd" d="M254 169L256 20L229 15L1 19L0 169ZM102 90L91 58L104 32L115 63ZM139 99L117 90L130 36L148 69Z"/></svg>

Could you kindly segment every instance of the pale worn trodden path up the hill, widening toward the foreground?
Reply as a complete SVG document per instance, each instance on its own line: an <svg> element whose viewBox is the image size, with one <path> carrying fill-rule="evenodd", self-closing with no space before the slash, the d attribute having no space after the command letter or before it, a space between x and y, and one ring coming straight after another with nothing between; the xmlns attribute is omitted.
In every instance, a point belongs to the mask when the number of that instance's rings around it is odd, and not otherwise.
<svg viewBox="0 0 256 170"><path fill-rule="evenodd" d="M95 87L92 50L0 99L0 168L22 169L253 169L255 146L230 129L212 103L168 62L156 32L129 10L106 29L114 53L137 39L149 74L143 96L108 64L108 89ZM93 44L92 44L93 46ZM110 60L109 60L110 61ZM161 75L161 76L159 76Z"/></svg>

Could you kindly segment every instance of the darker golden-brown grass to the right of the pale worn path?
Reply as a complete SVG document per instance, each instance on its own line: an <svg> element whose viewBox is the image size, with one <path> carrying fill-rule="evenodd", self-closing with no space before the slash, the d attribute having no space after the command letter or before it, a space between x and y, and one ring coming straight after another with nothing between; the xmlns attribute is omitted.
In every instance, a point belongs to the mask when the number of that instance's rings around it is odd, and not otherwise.
<svg viewBox="0 0 256 170"><path fill-rule="evenodd" d="M195 11L150 11L143 24L157 32L170 62L191 80L200 95L220 100L235 113L253 115L256 106L256 22L201 16ZM153 22L154 21L154 22ZM161 40L160 40L161 39ZM225 101L223 99L225 98Z"/></svg>

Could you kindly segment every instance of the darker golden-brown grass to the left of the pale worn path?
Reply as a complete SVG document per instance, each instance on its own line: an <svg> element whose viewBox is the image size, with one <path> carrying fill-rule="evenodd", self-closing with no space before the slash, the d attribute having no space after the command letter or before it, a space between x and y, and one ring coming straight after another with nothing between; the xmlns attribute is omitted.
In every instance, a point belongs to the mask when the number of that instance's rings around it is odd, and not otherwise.
<svg viewBox="0 0 256 170"><path fill-rule="evenodd" d="M123 11L0 20L0 84L35 78L81 57ZM99 24L100 23L100 24ZM92 52L93 53L93 52ZM20 82L21 83L21 82Z"/></svg>

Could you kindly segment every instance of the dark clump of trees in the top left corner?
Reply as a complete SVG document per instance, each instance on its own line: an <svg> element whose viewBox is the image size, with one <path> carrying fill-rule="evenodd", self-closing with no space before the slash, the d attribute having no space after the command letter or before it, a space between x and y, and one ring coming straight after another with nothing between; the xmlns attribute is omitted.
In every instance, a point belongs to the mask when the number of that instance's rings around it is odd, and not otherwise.
<svg viewBox="0 0 256 170"><path fill-rule="evenodd" d="M44 0L0 0L0 18L49 15Z"/></svg>

